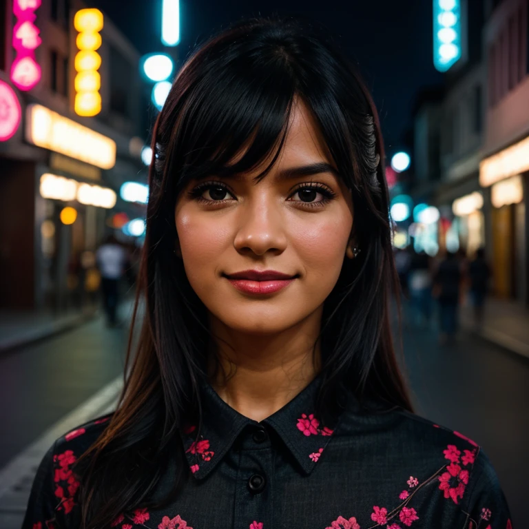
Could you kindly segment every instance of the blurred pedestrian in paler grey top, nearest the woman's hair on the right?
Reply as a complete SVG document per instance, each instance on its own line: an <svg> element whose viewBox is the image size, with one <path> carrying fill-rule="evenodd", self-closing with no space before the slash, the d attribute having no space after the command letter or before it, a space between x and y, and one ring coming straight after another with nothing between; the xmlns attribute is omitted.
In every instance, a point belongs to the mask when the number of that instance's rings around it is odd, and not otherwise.
<svg viewBox="0 0 529 529"><path fill-rule="evenodd" d="M432 315L432 276L430 258L426 252L420 251L412 256L409 276L415 323L428 325Z"/></svg>

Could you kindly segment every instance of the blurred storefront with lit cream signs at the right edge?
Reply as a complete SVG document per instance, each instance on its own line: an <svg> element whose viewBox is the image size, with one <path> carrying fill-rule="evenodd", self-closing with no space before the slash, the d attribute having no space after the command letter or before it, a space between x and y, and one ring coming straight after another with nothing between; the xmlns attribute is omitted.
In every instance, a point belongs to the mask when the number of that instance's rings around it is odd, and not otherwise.
<svg viewBox="0 0 529 529"><path fill-rule="evenodd" d="M489 258L495 294L528 303L529 137L485 158L479 182L490 201Z"/></svg>

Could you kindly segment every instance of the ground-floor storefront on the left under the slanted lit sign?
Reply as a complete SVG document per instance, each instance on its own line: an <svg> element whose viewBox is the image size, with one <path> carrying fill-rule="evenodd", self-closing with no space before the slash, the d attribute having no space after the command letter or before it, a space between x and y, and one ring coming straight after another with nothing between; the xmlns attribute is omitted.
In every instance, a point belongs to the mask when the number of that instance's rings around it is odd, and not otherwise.
<svg viewBox="0 0 529 529"><path fill-rule="evenodd" d="M81 309L95 301L94 252L116 205L104 173L116 143L43 105L24 117L24 138L0 154L1 304Z"/></svg>

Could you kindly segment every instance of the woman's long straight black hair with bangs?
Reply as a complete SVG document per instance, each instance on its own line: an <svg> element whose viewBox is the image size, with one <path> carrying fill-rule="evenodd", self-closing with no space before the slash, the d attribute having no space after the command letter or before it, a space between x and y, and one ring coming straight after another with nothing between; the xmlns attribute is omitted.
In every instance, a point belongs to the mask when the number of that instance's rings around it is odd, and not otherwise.
<svg viewBox="0 0 529 529"><path fill-rule="evenodd" d="M191 178L243 174L279 156L295 98L318 123L353 197L360 255L346 259L324 302L323 415L336 397L413 411L393 349L389 306L396 291L388 189L380 123L369 92L340 50L291 19L254 19L210 39L183 65L153 130L147 231L136 298L145 302L131 346L118 409L81 458L83 527L96 529L121 512L153 507L152 495L176 454L172 501L189 477L178 429L200 417L206 377L207 312L175 256L174 210ZM237 163L231 163L240 154ZM133 322L134 327L134 322ZM132 335L132 333L131 333ZM81 471L82 469L82 471ZM159 506L160 504L158 504Z"/></svg>

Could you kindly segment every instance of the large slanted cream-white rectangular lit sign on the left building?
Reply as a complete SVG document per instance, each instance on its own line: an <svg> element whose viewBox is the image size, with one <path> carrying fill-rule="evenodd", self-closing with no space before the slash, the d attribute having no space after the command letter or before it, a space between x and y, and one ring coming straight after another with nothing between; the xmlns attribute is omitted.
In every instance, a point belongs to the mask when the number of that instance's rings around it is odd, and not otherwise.
<svg viewBox="0 0 529 529"><path fill-rule="evenodd" d="M34 145L101 169L111 169L116 164L114 140L42 105L28 105L25 137Z"/></svg>

